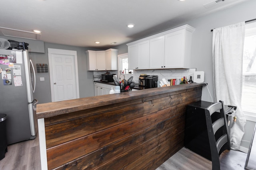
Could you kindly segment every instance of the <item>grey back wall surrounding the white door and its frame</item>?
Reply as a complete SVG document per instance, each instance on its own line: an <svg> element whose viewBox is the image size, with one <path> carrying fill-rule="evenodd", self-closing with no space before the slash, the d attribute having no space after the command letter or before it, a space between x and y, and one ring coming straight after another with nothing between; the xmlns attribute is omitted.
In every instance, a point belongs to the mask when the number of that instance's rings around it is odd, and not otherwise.
<svg viewBox="0 0 256 170"><path fill-rule="evenodd" d="M93 72L87 71L86 68L85 51L88 50L88 48L53 43L44 43L44 48L45 53L30 53L34 65L49 64L48 48L76 51L78 61L79 96L80 98L94 96ZM44 81L40 81L40 77L44 77ZM52 102L49 73L36 73L36 91L34 96L39 104Z"/></svg>

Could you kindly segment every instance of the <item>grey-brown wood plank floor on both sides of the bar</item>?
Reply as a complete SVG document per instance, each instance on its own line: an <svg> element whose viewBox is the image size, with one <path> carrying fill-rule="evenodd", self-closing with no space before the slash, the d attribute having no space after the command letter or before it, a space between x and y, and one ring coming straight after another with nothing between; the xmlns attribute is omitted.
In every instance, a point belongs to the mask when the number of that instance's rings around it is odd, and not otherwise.
<svg viewBox="0 0 256 170"><path fill-rule="evenodd" d="M234 150L226 150L225 155L236 155L238 160L227 158L221 162L223 170L244 170L247 154ZM221 155L222 156L222 155ZM182 148L166 160L156 170L211 170L212 162L206 158ZM5 158L0 160L0 170L41 170L38 137L8 146Z"/></svg>

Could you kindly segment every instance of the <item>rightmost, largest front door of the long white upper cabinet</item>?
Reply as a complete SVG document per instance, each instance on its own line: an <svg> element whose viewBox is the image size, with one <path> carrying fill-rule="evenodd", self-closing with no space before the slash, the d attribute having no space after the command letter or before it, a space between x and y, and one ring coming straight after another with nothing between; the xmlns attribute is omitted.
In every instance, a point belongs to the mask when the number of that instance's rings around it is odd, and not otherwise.
<svg viewBox="0 0 256 170"><path fill-rule="evenodd" d="M164 65L166 68L184 68L185 29L165 36Z"/></svg>

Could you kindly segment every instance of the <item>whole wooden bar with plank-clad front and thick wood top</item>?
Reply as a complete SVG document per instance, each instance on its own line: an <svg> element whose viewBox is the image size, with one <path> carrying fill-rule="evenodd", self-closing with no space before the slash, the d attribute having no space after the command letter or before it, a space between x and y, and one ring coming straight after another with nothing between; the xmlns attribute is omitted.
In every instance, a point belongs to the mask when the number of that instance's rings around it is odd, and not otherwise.
<svg viewBox="0 0 256 170"><path fill-rule="evenodd" d="M42 170L155 170L184 146L204 84L38 104Z"/></svg>

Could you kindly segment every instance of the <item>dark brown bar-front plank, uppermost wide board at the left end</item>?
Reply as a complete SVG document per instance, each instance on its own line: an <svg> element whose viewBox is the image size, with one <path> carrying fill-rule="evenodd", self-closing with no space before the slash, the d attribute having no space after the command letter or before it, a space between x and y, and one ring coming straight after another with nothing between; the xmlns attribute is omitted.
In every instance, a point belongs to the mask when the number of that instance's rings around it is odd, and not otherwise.
<svg viewBox="0 0 256 170"><path fill-rule="evenodd" d="M94 115L77 117L68 121L60 121L45 127L46 147L50 148L62 143L86 136L97 131L136 119L143 116L143 104L132 107L110 109Z"/></svg>

